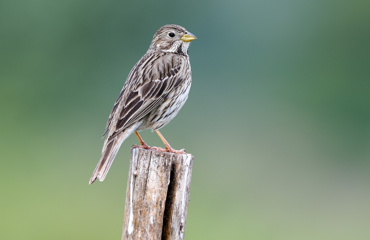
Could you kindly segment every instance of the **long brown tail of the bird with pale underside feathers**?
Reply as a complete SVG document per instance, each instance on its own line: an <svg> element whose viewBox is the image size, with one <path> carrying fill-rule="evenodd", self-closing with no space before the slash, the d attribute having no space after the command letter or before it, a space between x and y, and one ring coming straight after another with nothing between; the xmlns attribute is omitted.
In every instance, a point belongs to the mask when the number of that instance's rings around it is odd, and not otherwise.
<svg viewBox="0 0 370 240"><path fill-rule="evenodd" d="M124 131L118 133L113 139L108 138L104 142L103 151L101 154L100 161L96 166L94 173L92 173L91 179L89 184L95 182L96 179L100 181L104 180L105 176L107 176L108 170L112 165L113 159L120 149L120 146L129 135L136 129L136 125L131 125L130 127L126 128Z"/></svg>

